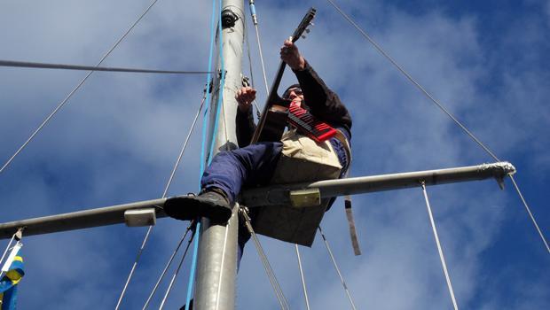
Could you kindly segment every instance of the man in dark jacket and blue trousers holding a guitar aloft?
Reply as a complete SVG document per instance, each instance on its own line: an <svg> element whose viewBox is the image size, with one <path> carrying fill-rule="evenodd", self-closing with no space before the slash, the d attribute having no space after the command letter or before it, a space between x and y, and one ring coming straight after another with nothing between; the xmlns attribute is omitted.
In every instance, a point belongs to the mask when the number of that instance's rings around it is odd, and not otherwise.
<svg viewBox="0 0 550 310"><path fill-rule="evenodd" d="M325 151L328 156L323 156L334 158L333 161L336 163L333 167L337 169L336 174L329 177L321 176L320 179L339 178L345 174L350 165L350 113L338 96L326 87L325 82L318 77L294 43L285 41L280 49L280 58L293 70L299 81L299 84L287 89L283 99L309 110L317 120L322 120L337 129L338 134L326 143L315 143L309 137L291 130L283 137L282 142L248 144L255 130L251 108L251 103L255 99L255 89L241 88L235 96L239 104L237 136L240 149L221 151L216 155L202 175L198 196L168 199L164 210L170 217L183 221L207 217L214 223L224 223L231 217L232 205L242 188L265 186L271 182L289 182L288 180L292 179L285 177L289 174L297 175L298 179L295 180L300 182L318 181L318 175L322 174L307 176L296 174L292 170L287 171L289 167L286 163L289 160L286 159L294 156L288 154L287 145L293 142L294 145L307 143L308 146L304 148ZM307 157L308 150L305 150L305 153ZM303 162L303 159L300 162Z"/></svg>

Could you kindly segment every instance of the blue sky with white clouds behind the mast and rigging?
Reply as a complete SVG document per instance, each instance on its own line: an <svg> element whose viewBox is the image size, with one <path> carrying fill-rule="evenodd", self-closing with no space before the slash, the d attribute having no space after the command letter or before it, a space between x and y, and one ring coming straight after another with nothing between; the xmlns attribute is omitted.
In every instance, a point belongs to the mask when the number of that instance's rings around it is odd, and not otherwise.
<svg viewBox="0 0 550 310"><path fill-rule="evenodd" d="M547 236L550 1L336 3L499 159L515 165L515 180ZM4 2L0 59L94 66L148 4ZM310 6L318 10L315 26L297 44L350 109L352 176L493 161L326 1L256 2L268 81L279 46ZM159 1L104 66L207 70L211 12L209 1ZM245 57L243 73L250 75L248 67ZM0 67L0 164L85 74ZM204 75L92 74L0 174L0 221L160 198L205 82ZM292 82L287 72L283 83ZM195 130L169 196L196 191L199 166ZM438 185L428 187L428 196L460 308L550 306L550 255L509 180L504 190L494 180ZM420 188L356 195L353 204L361 256L353 255L342 200L321 226L358 309L452 309ZM143 306L186 225L157 222L122 308ZM114 225L24 237L20 308L114 308L145 230ZM260 238L290 307L304 309L294 245ZM301 253L311 308L350 308L322 238ZM185 303L189 260L184 266L168 309ZM238 309L278 308L252 243L236 300Z"/></svg>

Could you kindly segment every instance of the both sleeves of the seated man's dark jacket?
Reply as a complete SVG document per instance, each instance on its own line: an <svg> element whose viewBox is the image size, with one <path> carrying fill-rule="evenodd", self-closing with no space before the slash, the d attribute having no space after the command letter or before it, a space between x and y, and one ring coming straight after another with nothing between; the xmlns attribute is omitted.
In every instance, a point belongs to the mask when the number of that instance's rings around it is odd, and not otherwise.
<svg viewBox="0 0 550 310"><path fill-rule="evenodd" d="M304 104L310 108L310 113L318 120L322 120L340 129L342 134L351 140L351 116L348 109L342 104L338 95L326 87L325 82L306 61L303 70L293 70L303 91ZM236 117L237 142L239 147L247 146L252 140L255 131L252 107L248 112L237 109Z"/></svg>

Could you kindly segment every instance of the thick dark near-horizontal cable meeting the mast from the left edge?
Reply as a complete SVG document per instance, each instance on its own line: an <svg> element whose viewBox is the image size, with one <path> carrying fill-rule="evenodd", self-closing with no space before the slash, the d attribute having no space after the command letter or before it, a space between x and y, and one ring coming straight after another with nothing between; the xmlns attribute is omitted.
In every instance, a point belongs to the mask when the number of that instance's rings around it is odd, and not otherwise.
<svg viewBox="0 0 550 310"><path fill-rule="evenodd" d="M209 74L206 71L173 71L173 70L152 70L136 68L119 68L108 66L76 66L63 64L47 64L27 61L0 60L0 66L36 68L36 69L65 69L65 70L83 70L83 71L106 71L106 72L125 72L136 74Z"/></svg>

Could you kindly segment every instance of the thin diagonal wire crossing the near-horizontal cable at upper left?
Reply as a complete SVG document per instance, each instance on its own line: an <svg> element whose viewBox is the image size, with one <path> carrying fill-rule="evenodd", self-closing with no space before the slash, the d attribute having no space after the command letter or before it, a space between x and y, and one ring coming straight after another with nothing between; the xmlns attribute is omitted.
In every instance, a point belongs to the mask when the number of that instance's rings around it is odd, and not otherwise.
<svg viewBox="0 0 550 310"><path fill-rule="evenodd" d="M136 27L136 25L138 25L138 22L143 19L145 17L145 14L147 14L147 12L149 12L151 10L151 8L153 8L153 5L157 3L157 1L159 0L153 0L153 2L151 4L149 4L149 6L145 9L145 11L139 16L138 19L136 19L136 21L134 21L134 23L130 26L130 28L124 33L124 35L122 35L117 41L116 43L114 43L113 47L111 47L111 49L109 49L106 54L99 60L98 62L98 65L96 66L100 66L103 61L113 52L113 50L122 42L122 40L124 40L124 38L130 34L130 31L132 31L132 29L134 27ZM67 101L69 100L70 97L73 97L73 95L75 94L75 92L81 88L81 86L83 86L84 82L86 80L88 80L88 78L90 77L91 74L93 74L94 72L93 71L90 71L89 74L86 74L86 76L83 78L82 81L80 81L76 87L71 90L69 92L69 94L67 95L67 97L65 97L65 99L61 100L61 102L59 103L59 105L56 106L55 109L53 109L53 111L46 117L45 120L43 120L42 124L40 124L40 126L38 126L38 128L35 129L35 131L32 133L31 136L28 137L27 141L25 143L23 143L20 148L15 151L15 153L12 155L12 157L10 159L8 159L8 161L6 161L4 163L4 166L0 168L0 173L2 173L4 171L4 169L6 167L8 167L10 165L10 163L12 163L12 160L15 159L16 156L18 156L20 154L21 151L23 151L23 149L27 146L28 143L30 143L34 138L35 136L38 134L38 132L40 132L40 130L42 130L42 128L44 126L46 126L46 124L51 120L51 118L53 118L53 116L55 114L57 114L57 112L59 111L59 109L61 109L61 107L63 107L63 105L65 105L67 103Z"/></svg>

